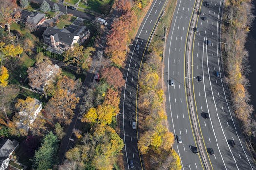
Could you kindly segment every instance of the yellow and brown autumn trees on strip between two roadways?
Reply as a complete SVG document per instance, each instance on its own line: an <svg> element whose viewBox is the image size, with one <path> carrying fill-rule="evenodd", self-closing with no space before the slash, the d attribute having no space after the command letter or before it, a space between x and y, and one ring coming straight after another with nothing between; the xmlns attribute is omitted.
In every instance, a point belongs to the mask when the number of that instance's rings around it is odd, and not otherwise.
<svg viewBox="0 0 256 170"><path fill-rule="evenodd" d="M145 113L138 148L149 157L149 169L181 170L178 154L172 149L174 134L168 132L164 112L164 93L161 87L162 57L151 51L145 56L143 73L139 81L139 110ZM144 119L144 118L143 118Z"/></svg>

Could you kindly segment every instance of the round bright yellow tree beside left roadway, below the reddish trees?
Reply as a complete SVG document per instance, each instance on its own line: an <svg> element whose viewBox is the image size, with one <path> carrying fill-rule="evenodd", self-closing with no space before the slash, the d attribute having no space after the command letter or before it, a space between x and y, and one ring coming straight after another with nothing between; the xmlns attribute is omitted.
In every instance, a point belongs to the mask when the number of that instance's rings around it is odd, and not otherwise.
<svg viewBox="0 0 256 170"><path fill-rule="evenodd" d="M112 122L112 117L115 116L115 109L110 105L99 105L96 109L98 122L106 125Z"/></svg>

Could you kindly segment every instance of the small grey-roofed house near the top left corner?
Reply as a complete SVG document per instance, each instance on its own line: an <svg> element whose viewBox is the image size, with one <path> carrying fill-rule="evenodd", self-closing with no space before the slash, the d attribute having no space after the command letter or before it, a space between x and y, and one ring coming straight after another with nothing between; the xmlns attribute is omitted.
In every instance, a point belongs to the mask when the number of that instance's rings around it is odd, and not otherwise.
<svg viewBox="0 0 256 170"><path fill-rule="evenodd" d="M44 13L22 10L20 21L35 27L41 25L46 20L45 15Z"/></svg>

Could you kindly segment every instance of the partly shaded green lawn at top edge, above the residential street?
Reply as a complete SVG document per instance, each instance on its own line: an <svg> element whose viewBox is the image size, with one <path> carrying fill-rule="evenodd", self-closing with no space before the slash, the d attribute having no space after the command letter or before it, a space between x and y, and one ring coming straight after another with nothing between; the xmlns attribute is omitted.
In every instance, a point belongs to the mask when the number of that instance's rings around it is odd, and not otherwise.
<svg viewBox="0 0 256 170"><path fill-rule="evenodd" d="M84 1L81 0L78 6L100 14L108 14L114 0L87 0L87 3L88 5L85 5Z"/></svg>

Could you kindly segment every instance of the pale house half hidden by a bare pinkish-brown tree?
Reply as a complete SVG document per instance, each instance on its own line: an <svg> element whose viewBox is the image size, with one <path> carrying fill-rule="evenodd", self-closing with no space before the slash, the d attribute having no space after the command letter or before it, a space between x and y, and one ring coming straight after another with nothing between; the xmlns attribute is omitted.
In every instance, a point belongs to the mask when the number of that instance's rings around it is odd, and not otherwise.
<svg viewBox="0 0 256 170"><path fill-rule="evenodd" d="M49 83L49 81L52 80L52 78L60 71L60 68L57 64L49 64L47 62L40 63L39 66L35 66L32 68L33 75L31 75L31 79L33 79L32 76L35 76L37 81L34 84L30 84L31 88L44 93L45 85Z"/></svg>

